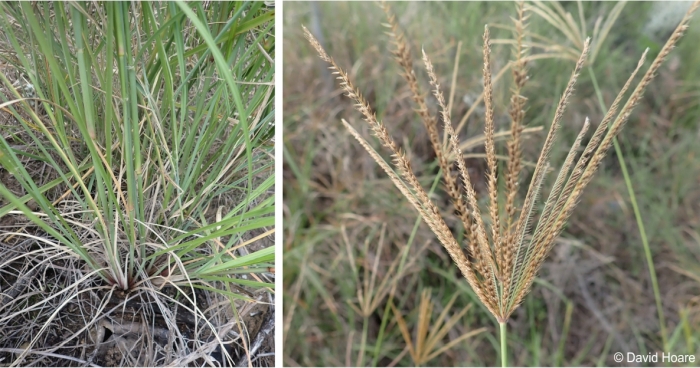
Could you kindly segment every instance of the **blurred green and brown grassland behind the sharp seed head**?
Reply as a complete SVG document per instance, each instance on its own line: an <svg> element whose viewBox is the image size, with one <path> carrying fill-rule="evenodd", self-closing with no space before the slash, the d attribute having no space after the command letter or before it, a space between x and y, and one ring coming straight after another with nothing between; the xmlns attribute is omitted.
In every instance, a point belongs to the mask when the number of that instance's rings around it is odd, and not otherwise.
<svg viewBox="0 0 700 368"><path fill-rule="evenodd" d="M455 124L483 90L484 24L491 28L493 73L513 59L511 47L498 40L512 39L511 31L499 25L512 26L515 5L392 3L412 47L423 92L429 90L421 47L436 65L445 95L454 94ZM581 74L552 165L563 162L586 116L594 127L602 119L595 83L609 105L647 47L650 56L642 70L648 68L680 19L663 15L659 9L666 5L634 2L621 8L595 60ZM390 55L393 45L382 26L384 13L374 3L284 6L285 364L498 364L499 335L493 317L415 210L342 126L340 119L345 118L376 143L302 34L303 24L348 71L406 150L424 187L434 188L432 199L454 220L442 182L435 183L438 169L429 139ZM599 17L604 23L616 11L612 2L562 6L574 23L584 22L588 36ZM660 15L667 19L659 19ZM654 29L657 23L668 27ZM554 54L562 48L580 52L538 14L530 12L528 31L551 42L548 49L533 48L532 55ZM694 354L696 361L700 353L698 42L696 14L618 136L653 255L670 352ZM549 128L573 67L573 60L561 57L528 64L530 80L523 91L529 99L526 127ZM506 72L494 86L497 131L509 128L511 84ZM432 96L427 100L434 115L436 103ZM460 133L462 142L483 134L481 114L476 108ZM544 138L542 132L527 135L526 160L536 160ZM497 148L505 152L502 144ZM375 149L389 160L378 145ZM483 145L477 145L465 153L483 152ZM472 157L467 163L477 193L485 198L485 160ZM530 175L526 170L520 178L523 193ZM551 187L554 175L547 180L545 187ZM461 233L458 222L450 224L456 235ZM508 323L509 364L617 365L613 354L618 351L663 351L655 305L640 230L619 159L611 149L532 293ZM402 328L411 336L413 352Z"/></svg>

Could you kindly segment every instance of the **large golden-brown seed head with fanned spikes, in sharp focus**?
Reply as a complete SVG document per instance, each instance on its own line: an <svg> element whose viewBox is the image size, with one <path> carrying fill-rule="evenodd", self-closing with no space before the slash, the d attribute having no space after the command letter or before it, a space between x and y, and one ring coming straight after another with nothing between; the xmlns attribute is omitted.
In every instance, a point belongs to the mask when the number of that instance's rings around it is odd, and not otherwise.
<svg viewBox="0 0 700 368"><path fill-rule="evenodd" d="M588 144L581 150L581 143L590 127L586 119L584 126L569 150L569 153L556 177L547 199L544 201L542 211L536 216L536 203L542 195L544 178L549 171L549 156L556 139L557 131L561 126L564 112L569 104L569 99L574 92L576 80L583 68L590 50L590 39L583 43L582 51L577 59L574 71L557 104L554 119L550 125L549 133L540 151L536 167L532 174L527 194L520 204L516 204L516 196L519 187L519 177L522 169L521 133L524 120L524 107L526 98L520 95L520 91L527 81L527 68L523 60L524 46L523 34L526 23L525 7L518 7L518 19L516 20L515 58L513 63L513 77L515 87L511 97L511 140L508 143L508 163L505 173L504 208L501 208L499 198L498 163L495 147L495 123L493 109L493 83L491 78L491 46L488 27L485 27L483 40L483 80L485 103L485 148L488 167L487 188L489 208L488 214L482 213L477 201L477 193L471 182L459 146L458 136L455 133L450 111L445 103L440 90L437 76L427 54L423 52L423 61L434 88L433 94L438 101L444 122L444 128L448 136L447 144L439 141L437 134L437 119L432 117L413 70L410 49L404 36L400 33L396 20L391 14L388 5L383 8L387 13L391 36L393 37L396 56L403 68L402 75L406 79L416 103L418 115L422 118L428 131L431 144L435 150L440 168L445 177L447 193L454 202L455 209L464 226L467 243L461 246L454 234L447 226L440 209L429 199L425 189L420 185L416 175L411 169L411 164L398 144L391 138L386 126L377 119L376 114L364 99L360 91L353 85L347 73L340 68L330 57L314 36L304 27L305 35L311 45L319 53L322 60L328 62L330 69L347 96L355 102L356 109L363 115L372 129L373 134L379 138L382 146L393 157L393 167L372 148L372 146L350 125L342 120L345 127L367 150L372 158L387 173L392 182L419 212L421 217L435 233L441 244L445 247L452 260L456 263L463 276L467 279L481 302L493 314L501 329L501 361L507 363L506 354L506 323L513 311L522 303L528 294L535 275L552 249L556 238L562 232L568 218L571 216L585 187L590 183L593 175L605 157L613 143L613 138L620 133L625 122L629 119L634 107L639 103L646 87L652 81L655 73L666 59L674 45L687 29L690 15L700 6L696 2L686 13L674 33L666 42L652 65L646 71L642 79L622 104L628 89L633 85L637 72L644 64L646 51L641 56L639 63L631 76L622 87L610 109L594 131ZM459 176L451 173L451 165L447 159L447 153L454 155L457 161ZM577 157L578 156L578 157ZM463 191L459 187L461 178ZM466 199L465 199L466 197ZM518 210L519 207L519 210ZM518 213L519 212L519 213ZM489 229L490 220L490 229ZM536 224L535 224L536 220Z"/></svg>

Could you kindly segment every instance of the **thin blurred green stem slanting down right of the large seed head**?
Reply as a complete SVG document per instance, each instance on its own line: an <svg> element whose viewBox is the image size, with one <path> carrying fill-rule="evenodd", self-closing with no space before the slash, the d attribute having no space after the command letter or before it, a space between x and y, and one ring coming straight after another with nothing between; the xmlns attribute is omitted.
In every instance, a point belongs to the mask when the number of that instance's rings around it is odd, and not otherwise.
<svg viewBox="0 0 700 368"><path fill-rule="evenodd" d="M595 78L593 69L588 67L588 72L591 74L591 81L593 82L593 87L595 88L596 95L598 96L598 103L600 103L600 108L603 113L607 111L605 107L605 102L603 101L603 96L598 88L598 81ZM647 266L649 266L649 277L651 278L651 286L654 289L654 299L656 301L656 312L659 315L659 328L661 329L661 341L664 346L664 351L668 351L668 339L666 337L666 321L664 318L664 311L661 306L661 293L659 292L659 283L656 280L656 269L654 268L654 260L651 256L651 249L649 248L649 240L647 239L647 233L644 229L644 222L642 221L642 214L639 211L639 205L637 204L637 197L634 195L634 188L632 187L632 180L627 172L627 165L625 164L625 158L622 155L622 149L617 141L617 137L613 138L613 145L615 146L615 153L617 154L617 159L620 162L620 168L622 169L622 176L625 178L625 186L627 186L627 192L630 196L630 202L632 202L632 209L634 211L634 217L637 220L637 227L639 228L639 236L642 239L642 245L644 246L644 255L646 257Z"/></svg>

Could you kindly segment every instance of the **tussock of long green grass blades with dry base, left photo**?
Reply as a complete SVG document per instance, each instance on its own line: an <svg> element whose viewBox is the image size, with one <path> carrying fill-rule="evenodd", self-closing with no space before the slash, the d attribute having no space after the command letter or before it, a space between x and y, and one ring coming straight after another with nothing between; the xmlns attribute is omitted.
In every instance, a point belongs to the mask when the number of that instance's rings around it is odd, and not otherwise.
<svg viewBox="0 0 700 368"><path fill-rule="evenodd" d="M273 27L262 2L0 4L0 172L16 183L0 183L0 219L28 223L0 253L35 239L80 260L80 282L154 300L199 289L235 310L255 301L244 288L272 289L273 247L244 247L274 233Z"/></svg>

